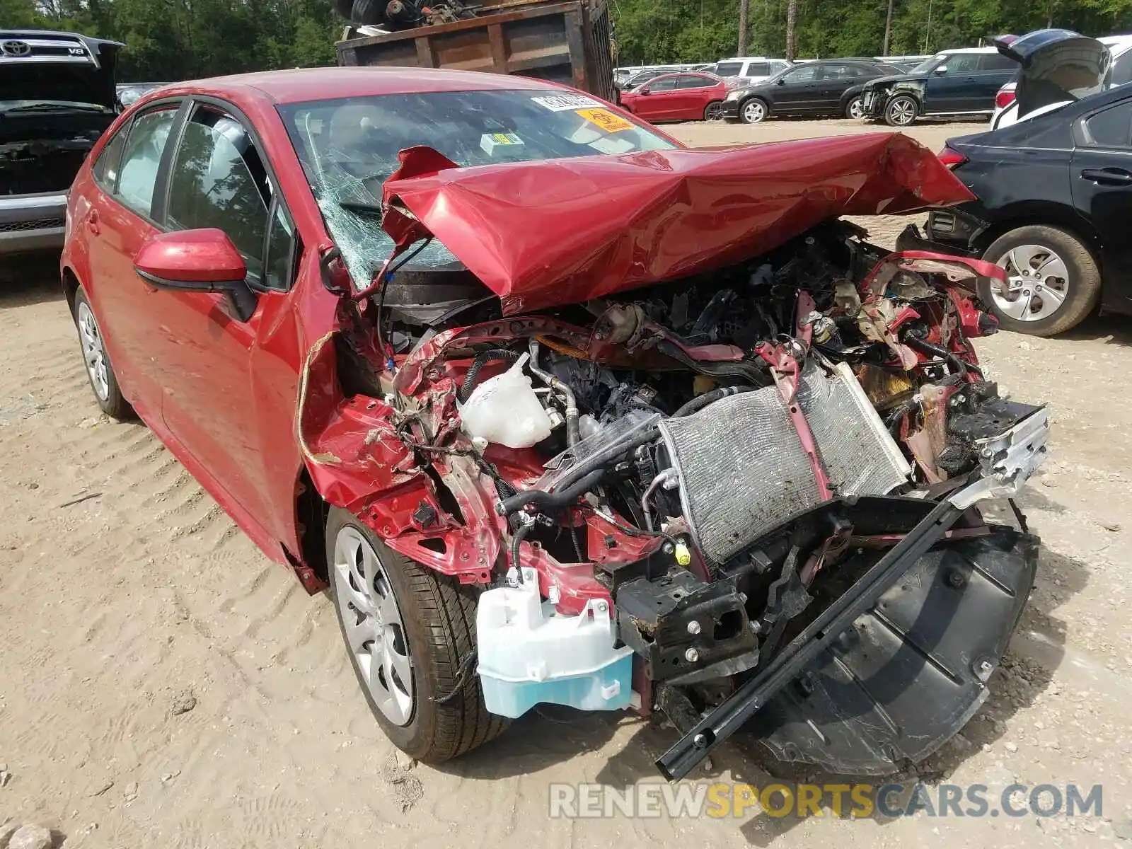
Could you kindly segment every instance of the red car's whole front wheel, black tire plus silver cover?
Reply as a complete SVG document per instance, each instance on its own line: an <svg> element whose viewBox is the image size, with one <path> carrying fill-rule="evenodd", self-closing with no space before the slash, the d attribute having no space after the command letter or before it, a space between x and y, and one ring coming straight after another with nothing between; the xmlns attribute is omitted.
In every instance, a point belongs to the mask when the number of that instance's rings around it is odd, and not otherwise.
<svg viewBox="0 0 1132 849"><path fill-rule="evenodd" d="M372 555L368 560L363 546ZM363 555L361 567L357 567L359 552ZM488 713L483 706L474 663L468 666L460 680L461 664L475 648L478 591L398 555L357 516L337 507L331 509L326 521L326 559L329 594L354 676L378 724L397 748L418 761L437 764L471 752L507 727L506 718ZM355 572L351 572L351 561ZM368 576L363 574L367 563ZM379 610L380 616L367 616L362 609L366 601L353 604L353 600L367 598L357 586L367 577L371 590L368 598L377 599L370 609ZM352 628L348 628L344 615L353 619ZM366 645L359 641L369 628L381 634L383 645L392 652L393 659L380 664L380 674L372 648L354 650L355 643ZM405 669L405 676L400 675L397 666ZM387 669L392 675L385 675ZM395 691L385 686L386 681L392 681ZM451 701L435 701L457 689Z"/></svg>

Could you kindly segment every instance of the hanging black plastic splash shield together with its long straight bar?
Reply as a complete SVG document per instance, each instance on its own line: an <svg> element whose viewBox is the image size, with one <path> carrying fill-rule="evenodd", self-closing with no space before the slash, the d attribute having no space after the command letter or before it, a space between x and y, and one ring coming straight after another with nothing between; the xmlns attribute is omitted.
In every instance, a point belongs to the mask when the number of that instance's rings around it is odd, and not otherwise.
<svg viewBox="0 0 1132 849"><path fill-rule="evenodd" d="M1029 597L1038 547L1037 538L997 526L943 541L961 515L949 501L932 506L661 755L661 773L683 778L740 728L761 731L784 760L858 774L893 772L951 738L986 698L985 681Z"/></svg>

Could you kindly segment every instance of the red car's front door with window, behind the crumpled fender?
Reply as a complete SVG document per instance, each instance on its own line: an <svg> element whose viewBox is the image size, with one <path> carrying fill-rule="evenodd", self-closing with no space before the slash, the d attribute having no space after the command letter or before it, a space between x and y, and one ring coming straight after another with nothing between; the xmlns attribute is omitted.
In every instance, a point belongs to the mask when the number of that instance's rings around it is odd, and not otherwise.
<svg viewBox="0 0 1132 849"><path fill-rule="evenodd" d="M162 290L153 300L154 358L165 427L205 473L223 481L230 500L280 539L274 460L261 444L264 422L277 418L278 398L261 397L272 358L260 336L285 315L284 291L269 245L290 245L293 232L259 152L243 125L213 105L192 108L173 152L165 229L217 228L232 240L258 293L251 318L239 320L221 294ZM280 237L282 233L282 238ZM288 250L289 248L281 248ZM258 378L258 379L257 379ZM289 458L290 460L290 458Z"/></svg>

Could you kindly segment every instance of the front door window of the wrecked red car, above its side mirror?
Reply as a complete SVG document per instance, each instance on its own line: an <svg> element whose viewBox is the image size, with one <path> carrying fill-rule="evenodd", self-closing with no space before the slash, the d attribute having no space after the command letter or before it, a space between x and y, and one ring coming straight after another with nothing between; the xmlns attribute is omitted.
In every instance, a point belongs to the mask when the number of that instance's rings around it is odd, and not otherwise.
<svg viewBox="0 0 1132 849"><path fill-rule="evenodd" d="M173 160L166 223L173 230L218 228L260 280L271 189L259 152L235 118L198 106Z"/></svg>

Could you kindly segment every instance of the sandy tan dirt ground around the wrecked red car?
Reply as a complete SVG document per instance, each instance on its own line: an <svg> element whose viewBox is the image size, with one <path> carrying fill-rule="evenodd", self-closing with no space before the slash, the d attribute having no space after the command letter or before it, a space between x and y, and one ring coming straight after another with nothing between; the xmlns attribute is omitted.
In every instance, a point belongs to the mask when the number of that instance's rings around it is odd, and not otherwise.
<svg viewBox="0 0 1132 849"><path fill-rule="evenodd" d="M675 131L712 145L859 129ZM978 129L911 135L938 149ZM903 223L874 222L876 240ZM163 849L1132 840L1132 321L979 349L1015 398L1053 411L1050 458L1020 499L1044 541L1038 582L993 697L902 780L1101 783L1103 816L550 820L551 782L659 780L672 729L543 711L440 769L395 754L328 600L268 563L148 430L98 415L50 266L22 272L0 285L0 823L42 823L68 847ZM763 786L767 769L740 735L695 779Z"/></svg>

